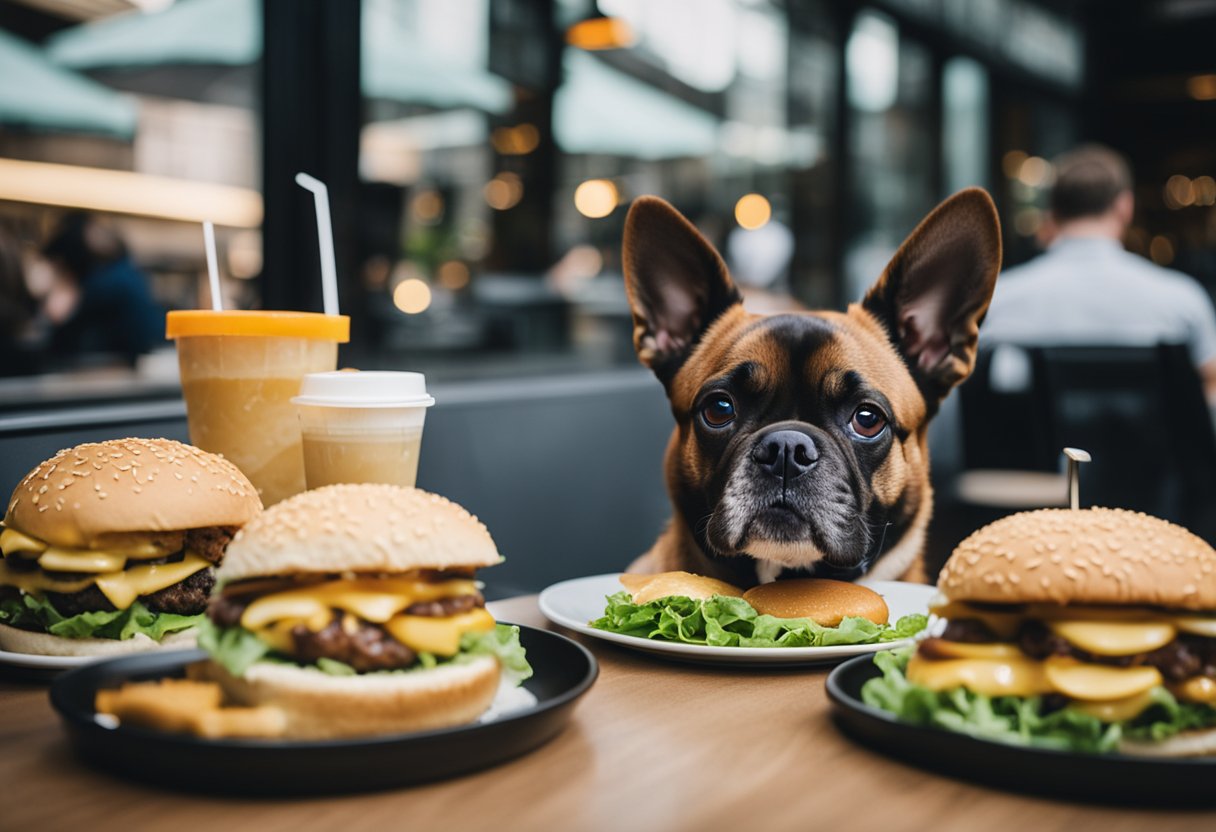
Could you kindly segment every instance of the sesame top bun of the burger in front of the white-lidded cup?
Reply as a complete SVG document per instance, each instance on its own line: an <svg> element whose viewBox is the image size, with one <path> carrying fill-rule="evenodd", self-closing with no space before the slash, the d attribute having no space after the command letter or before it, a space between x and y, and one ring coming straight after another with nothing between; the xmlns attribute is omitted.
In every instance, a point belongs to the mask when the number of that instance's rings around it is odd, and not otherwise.
<svg viewBox="0 0 1216 832"><path fill-rule="evenodd" d="M482 522L438 494L400 485L327 485L283 500L242 528L216 579L400 573L501 560Z"/></svg>

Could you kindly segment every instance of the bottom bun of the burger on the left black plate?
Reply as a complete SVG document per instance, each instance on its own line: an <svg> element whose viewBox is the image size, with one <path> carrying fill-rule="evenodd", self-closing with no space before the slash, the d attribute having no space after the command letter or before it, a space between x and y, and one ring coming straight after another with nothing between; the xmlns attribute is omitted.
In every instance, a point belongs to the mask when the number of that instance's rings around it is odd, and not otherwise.
<svg viewBox="0 0 1216 832"><path fill-rule="evenodd" d="M331 676L316 668L259 662L243 678L214 662L192 668L242 705L278 708L294 740L429 731L472 723L490 707L501 671L492 656L429 670Z"/></svg>

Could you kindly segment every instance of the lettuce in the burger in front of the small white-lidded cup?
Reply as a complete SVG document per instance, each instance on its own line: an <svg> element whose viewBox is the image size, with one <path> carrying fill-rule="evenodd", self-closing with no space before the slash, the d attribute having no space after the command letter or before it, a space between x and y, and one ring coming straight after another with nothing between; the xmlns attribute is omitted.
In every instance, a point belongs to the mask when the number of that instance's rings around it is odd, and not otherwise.
<svg viewBox="0 0 1216 832"><path fill-rule="evenodd" d="M199 625L198 646L210 653L212 658L233 676L243 676L258 662L298 664L291 657L271 650L270 645L243 626L219 628L210 619ZM508 624L497 624L492 630L485 633L466 633L461 636L460 651L456 656L441 658L432 653L418 653L417 663L410 668L375 673L429 670L444 664L465 664L477 656L488 653L499 658L508 684L518 685L533 674L523 645L519 643L519 628ZM349 664L323 657L310 667L331 676L349 676L356 673Z"/></svg>

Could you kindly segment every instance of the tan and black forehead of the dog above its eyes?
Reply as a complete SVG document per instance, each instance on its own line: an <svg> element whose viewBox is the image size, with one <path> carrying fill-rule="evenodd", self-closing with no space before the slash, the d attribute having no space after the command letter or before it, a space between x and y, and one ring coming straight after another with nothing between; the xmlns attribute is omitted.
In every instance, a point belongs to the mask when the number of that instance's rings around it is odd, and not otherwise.
<svg viewBox="0 0 1216 832"><path fill-rule="evenodd" d="M925 420L924 398L903 359L885 330L856 307L846 314L724 315L681 369L676 406L691 410L706 382L739 367L753 387L809 384L826 397L841 395L860 378L882 390L897 423L914 428Z"/></svg>

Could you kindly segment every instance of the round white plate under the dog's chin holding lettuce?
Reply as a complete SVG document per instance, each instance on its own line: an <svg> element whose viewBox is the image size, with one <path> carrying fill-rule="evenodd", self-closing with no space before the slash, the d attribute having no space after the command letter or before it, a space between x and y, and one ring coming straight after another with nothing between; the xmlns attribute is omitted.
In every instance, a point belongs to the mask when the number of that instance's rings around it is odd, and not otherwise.
<svg viewBox="0 0 1216 832"><path fill-rule="evenodd" d="M620 585L620 575L617 573L608 575L592 575L590 578L575 578L553 584L540 594L540 611L545 618L561 624L564 628L601 639L613 643L641 650L647 653L658 653L680 662L705 662L709 664L759 664L759 665L790 665L790 664L826 664L839 662L850 656L862 653L877 653L882 650L903 647L912 643L911 639L899 641L886 641L878 645L839 645L833 647L709 647L706 645L685 645L676 641L659 641L658 639L640 639L638 636L621 635L620 633L608 633L597 630L587 622L604 614L604 598L624 588ZM924 584L906 584L899 580L873 580L861 581L869 589L883 596L886 607L891 612L891 622L897 622L902 615L912 613L928 614L929 600L938 591L933 586Z"/></svg>

